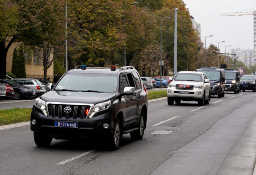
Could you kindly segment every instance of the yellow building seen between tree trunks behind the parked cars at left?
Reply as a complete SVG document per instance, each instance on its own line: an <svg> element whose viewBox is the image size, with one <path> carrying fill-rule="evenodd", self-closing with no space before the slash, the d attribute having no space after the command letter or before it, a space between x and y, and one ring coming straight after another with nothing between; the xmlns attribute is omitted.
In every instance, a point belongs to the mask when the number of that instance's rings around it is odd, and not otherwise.
<svg viewBox="0 0 256 175"><path fill-rule="evenodd" d="M17 43L13 43L7 52L6 72L12 71L12 57L15 47L18 47ZM52 59L52 56L50 59ZM27 78L44 78L44 67L42 61L37 57L31 58L30 61L26 60L25 67ZM53 81L53 63L47 69L47 78L50 78L50 80Z"/></svg>

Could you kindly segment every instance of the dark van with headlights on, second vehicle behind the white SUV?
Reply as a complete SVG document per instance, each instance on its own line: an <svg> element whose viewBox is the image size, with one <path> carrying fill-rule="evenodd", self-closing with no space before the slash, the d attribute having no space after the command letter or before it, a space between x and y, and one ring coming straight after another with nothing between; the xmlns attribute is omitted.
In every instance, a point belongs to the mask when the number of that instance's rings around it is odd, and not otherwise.
<svg viewBox="0 0 256 175"><path fill-rule="evenodd" d="M234 69L225 69L225 91L234 92L235 94L240 92L240 72L234 71Z"/></svg>

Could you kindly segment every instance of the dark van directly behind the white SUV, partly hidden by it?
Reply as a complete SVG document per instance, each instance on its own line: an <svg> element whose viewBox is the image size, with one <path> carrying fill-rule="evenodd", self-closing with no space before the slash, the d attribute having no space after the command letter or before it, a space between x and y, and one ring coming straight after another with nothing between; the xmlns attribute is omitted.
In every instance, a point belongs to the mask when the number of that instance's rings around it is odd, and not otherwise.
<svg viewBox="0 0 256 175"><path fill-rule="evenodd" d="M225 96L225 70L216 67L202 67L197 72L206 73L211 84L211 95L218 95L218 98Z"/></svg>

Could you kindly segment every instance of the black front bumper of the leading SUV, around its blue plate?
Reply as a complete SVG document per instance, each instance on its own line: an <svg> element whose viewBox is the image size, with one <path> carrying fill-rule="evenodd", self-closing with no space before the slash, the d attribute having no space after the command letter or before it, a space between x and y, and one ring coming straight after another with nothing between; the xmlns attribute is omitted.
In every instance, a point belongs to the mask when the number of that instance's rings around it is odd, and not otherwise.
<svg viewBox="0 0 256 175"><path fill-rule="evenodd" d="M80 118L59 118L47 117L41 110L33 107L31 111L31 120L35 119L36 124L30 123L30 129L55 139L74 139L74 138L108 138L113 133L114 124L110 119L109 110L105 113L95 116L91 119ZM78 128L54 127L54 121L78 122ZM103 123L109 123L109 128L103 128Z"/></svg>

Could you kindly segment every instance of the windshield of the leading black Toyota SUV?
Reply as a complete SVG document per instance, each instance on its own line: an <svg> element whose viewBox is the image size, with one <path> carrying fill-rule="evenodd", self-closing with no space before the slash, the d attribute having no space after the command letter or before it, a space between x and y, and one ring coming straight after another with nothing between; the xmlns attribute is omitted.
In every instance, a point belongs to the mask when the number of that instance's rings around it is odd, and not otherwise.
<svg viewBox="0 0 256 175"><path fill-rule="evenodd" d="M117 89L116 75L69 73L56 85L54 90L113 93Z"/></svg>

